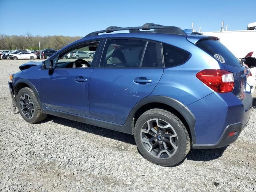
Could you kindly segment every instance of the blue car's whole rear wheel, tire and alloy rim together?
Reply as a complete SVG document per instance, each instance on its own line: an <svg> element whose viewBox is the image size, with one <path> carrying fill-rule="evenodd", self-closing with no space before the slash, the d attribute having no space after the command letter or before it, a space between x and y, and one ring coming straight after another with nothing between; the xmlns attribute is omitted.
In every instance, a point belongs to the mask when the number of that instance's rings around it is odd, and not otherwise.
<svg viewBox="0 0 256 192"><path fill-rule="evenodd" d="M136 121L134 138L140 153L161 166L177 165L190 151L186 127L177 116L163 109L144 112Z"/></svg>

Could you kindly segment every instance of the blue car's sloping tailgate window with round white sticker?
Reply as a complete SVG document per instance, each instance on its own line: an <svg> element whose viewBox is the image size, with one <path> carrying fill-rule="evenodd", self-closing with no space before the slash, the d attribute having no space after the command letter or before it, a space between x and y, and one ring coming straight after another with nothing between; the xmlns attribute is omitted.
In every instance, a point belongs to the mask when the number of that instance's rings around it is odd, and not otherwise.
<svg viewBox="0 0 256 192"><path fill-rule="evenodd" d="M202 40L196 44L199 48L210 54L218 62L234 66L241 67L238 58L228 50L221 42L217 40Z"/></svg>

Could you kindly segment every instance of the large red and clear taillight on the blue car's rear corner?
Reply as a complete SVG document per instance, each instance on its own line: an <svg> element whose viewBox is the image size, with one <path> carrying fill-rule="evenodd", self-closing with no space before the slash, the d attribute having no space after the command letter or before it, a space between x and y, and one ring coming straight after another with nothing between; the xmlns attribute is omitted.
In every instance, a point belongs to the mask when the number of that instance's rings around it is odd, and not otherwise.
<svg viewBox="0 0 256 192"><path fill-rule="evenodd" d="M204 84L218 93L232 92L234 88L233 73L222 69L205 69L196 74Z"/></svg>

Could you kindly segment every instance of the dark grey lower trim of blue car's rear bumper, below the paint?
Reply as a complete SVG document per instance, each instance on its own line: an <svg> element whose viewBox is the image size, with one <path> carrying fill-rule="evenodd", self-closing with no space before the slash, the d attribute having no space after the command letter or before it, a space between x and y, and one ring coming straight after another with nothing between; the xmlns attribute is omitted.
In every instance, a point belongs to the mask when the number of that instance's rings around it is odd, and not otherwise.
<svg viewBox="0 0 256 192"><path fill-rule="evenodd" d="M236 141L236 139L238 138L238 136L246 126L247 124L243 127L241 122L228 125L216 144L209 144L209 145L194 144L192 147L194 149L215 149L215 148L228 146L229 144ZM233 136L228 136L228 134L232 132L235 132L235 134Z"/></svg>

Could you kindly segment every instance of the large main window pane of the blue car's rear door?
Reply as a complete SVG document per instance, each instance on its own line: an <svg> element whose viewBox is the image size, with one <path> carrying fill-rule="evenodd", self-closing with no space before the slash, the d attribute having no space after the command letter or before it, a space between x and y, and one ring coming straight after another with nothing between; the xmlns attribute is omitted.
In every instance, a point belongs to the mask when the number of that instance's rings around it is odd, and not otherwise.
<svg viewBox="0 0 256 192"><path fill-rule="evenodd" d="M146 41L108 39L100 67L140 67Z"/></svg>

